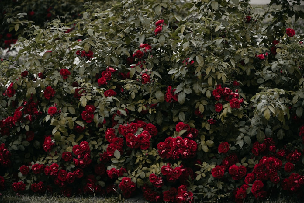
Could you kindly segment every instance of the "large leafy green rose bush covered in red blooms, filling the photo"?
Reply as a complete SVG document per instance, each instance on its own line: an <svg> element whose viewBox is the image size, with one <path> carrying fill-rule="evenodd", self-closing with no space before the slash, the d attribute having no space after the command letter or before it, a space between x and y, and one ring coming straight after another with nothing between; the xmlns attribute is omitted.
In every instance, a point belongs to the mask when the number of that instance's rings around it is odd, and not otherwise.
<svg viewBox="0 0 304 203"><path fill-rule="evenodd" d="M73 30L27 23L23 48L0 63L0 189L301 196L303 36L273 8L266 26L250 9L123 0L85 3Z"/></svg>

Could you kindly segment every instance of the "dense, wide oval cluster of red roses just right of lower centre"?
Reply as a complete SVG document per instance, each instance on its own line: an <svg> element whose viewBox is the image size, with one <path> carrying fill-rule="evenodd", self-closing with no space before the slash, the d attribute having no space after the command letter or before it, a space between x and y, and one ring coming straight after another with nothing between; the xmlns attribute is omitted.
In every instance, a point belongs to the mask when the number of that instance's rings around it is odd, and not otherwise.
<svg viewBox="0 0 304 203"><path fill-rule="evenodd" d="M161 158L166 159L189 159L196 155L197 143L189 138L168 137L164 142L157 144L157 150Z"/></svg>

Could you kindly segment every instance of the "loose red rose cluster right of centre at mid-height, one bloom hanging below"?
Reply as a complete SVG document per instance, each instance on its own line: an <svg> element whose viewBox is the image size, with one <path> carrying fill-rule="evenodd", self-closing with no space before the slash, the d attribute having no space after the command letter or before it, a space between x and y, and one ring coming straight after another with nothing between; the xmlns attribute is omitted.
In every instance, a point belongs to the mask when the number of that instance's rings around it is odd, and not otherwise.
<svg viewBox="0 0 304 203"><path fill-rule="evenodd" d="M216 86L216 89L212 91L212 95L217 101L228 101L230 103L230 107L232 109L238 109L241 107L241 103L243 103L244 99L239 99L239 93L237 93L237 89L233 92L230 88L224 87L219 84ZM222 107L219 103L216 104L216 112L220 112Z"/></svg>

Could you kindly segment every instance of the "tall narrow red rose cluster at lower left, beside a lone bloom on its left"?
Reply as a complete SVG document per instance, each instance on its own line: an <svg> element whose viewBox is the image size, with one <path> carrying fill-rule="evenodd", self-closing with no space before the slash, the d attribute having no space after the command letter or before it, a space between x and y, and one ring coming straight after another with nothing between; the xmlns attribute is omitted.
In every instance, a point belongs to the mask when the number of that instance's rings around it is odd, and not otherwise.
<svg viewBox="0 0 304 203"><path fill-rule="evenodd" d="M75 166L85 168L91 164L91 150L87 141L82 141L79 145L74 145L72 150L73 153L77 156L77 159L73 159Z"/></svg>

